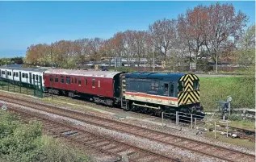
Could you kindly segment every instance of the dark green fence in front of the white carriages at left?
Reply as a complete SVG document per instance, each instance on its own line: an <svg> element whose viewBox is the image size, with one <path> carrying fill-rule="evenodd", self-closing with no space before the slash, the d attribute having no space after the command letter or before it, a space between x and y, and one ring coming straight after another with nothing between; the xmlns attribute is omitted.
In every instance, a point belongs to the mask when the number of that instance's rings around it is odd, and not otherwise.
<svg viewBox="0 0 256 162"><path fill-rule="evenodd" d="M42 84L42 77L38 76L37 81L35 78L33 78L31 81L28 78L26 80L27 81L25 82L21 82L0 78L0 89L7 92L21 93L43 98L44 87Z"/></svg>

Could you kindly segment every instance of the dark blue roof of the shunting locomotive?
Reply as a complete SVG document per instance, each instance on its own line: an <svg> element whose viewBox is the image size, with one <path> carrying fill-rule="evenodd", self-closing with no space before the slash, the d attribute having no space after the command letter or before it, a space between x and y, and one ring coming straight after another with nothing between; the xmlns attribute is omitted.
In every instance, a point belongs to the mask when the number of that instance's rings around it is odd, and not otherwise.
<svg viewBox="0 0 256 162"><path fill-rule="evenodd" d="M125 77L130 78L138 78L138 79L158 79L163 81L174 81L178 82L178 80L186 75L185 73L126 73Z"/></svg>

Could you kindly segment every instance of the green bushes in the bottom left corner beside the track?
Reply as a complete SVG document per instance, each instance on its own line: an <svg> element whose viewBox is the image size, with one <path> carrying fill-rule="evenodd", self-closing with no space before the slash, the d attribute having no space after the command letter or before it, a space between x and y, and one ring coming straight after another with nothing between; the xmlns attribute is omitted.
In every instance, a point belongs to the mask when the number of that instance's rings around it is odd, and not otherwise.
<svg viewBox="0 0 256 162"><path fill-rule="evenodd" d="M89 161L65 143L42 135L40 123L19 123L13 114L0 111L0 161Z"/></svg>

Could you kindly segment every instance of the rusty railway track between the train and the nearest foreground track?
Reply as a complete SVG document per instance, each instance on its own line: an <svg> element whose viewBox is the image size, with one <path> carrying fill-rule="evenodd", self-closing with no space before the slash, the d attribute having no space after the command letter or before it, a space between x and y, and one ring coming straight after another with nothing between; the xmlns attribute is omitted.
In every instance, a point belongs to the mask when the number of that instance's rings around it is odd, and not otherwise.
<svg viewBox="0 0 256 162"><path fill-rule="evenodd" d="M34 107L35 102L19 99L15 101L15 98L4 97L0 95L0 99L6 102L12 102L23 106ZM230 150L225 147L212 145L209 143L200 142L194 139L187 139L177 135L170 135L161 131L150 130L145 127L138 127L128 123L113 120L111 118L103 118L91 114L83 114L74 110L65 110L57 106L48 106L40 103L36 103L37 110L44 110L48 113L58 114L68 118L77 119L84 123L89 123L94 126L104 127L109 130L119 131L127 133L129 135L136 135L141 138L150 139L157 143L163 143L166 145L185 149L190 152L195 152L200 155L215 157L218 160L226 161L255 161L254 155L247 154L245 152L238 152Z"/></svg>

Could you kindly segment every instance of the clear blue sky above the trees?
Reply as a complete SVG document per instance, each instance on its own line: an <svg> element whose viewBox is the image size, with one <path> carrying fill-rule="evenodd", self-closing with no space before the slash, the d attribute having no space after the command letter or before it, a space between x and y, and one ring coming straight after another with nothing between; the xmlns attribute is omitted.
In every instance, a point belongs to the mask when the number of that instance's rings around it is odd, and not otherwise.
<svg viewBox="0 0 256 162"><path fill-rule="evenodd" d="M255 2L233 2L255 23ZM187 9L211 2L1 2L0 58L25 56L31 44L110 38L118 31L147 30L157 19L177 19ZM224 3L224 2L220 2Z"/></svg>

